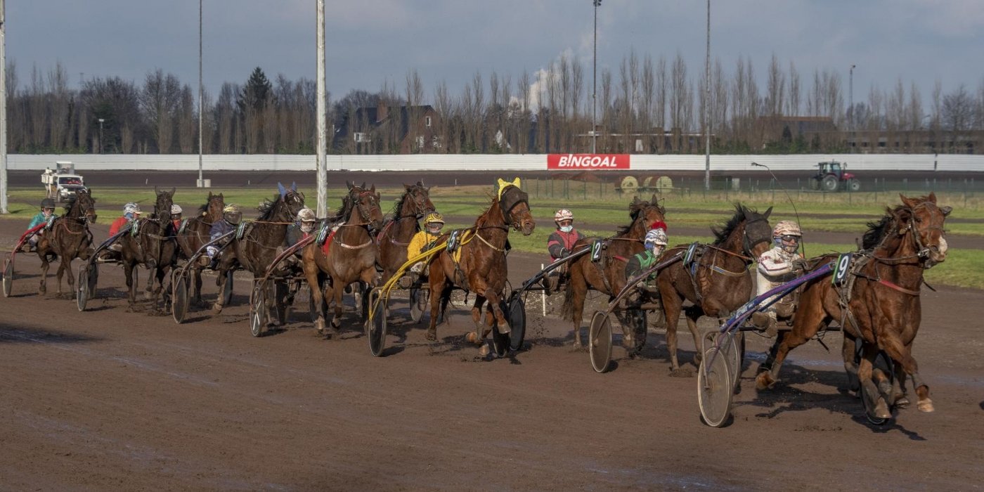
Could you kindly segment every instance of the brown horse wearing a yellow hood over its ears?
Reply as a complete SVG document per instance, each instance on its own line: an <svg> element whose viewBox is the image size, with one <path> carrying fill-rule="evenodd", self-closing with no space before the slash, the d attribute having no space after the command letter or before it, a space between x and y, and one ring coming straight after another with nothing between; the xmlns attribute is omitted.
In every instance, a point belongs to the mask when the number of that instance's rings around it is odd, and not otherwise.
<svg viewBox="0 0 984 492"><path fill-rule="evenodd" d="M509 322L501 305L506 280L509 277L506 263L509 229L519 230L523 235L533 232L535 222L529 213L529 198L519 187L519 179L509 183L500 180L498 196L492 197L492 204L475 220L475 224L459 229L456 240L459 245L455 252L447 249L436 253L430 263L431 318L427 328L427 339L437 339L437 320L451 296L451 291L461 288L475 293L471 308L471 321L475 326L475 337L481 343L492 326L498 323L500 333L509 333ZM447 241L449 235L444 236ZM436 295L440 294L440 295ZM481 309L485 301L489 311L485 316L485 326L480 323ZM483 350L488 347L483 347Z"/></svg>

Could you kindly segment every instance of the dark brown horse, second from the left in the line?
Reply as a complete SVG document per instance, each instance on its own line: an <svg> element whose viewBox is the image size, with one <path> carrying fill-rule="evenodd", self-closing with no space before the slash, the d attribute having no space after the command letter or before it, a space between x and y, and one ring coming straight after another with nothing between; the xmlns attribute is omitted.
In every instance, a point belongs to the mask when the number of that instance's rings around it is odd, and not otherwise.
<svg viewBox="0 0 984 492"><path fill-rule="evenodd" d="M163 289L164 277L174 266L177 259L177 244L174 241L174 225L171 222L171 206L173 205L174 188L171 191L159 191L154 187L157 198L154 202L154 213L146 218L135 220L129 233L120 239L122 250L120 259L123 272L126 275L126 286L129 291L132 311L137 302L137 288L133 283L133 269L139 264L154 272L147 279L147 297L157 306L157 296ZM154 288L154 278L157 286ZM165 301L169 298L164 294Z"/></svg>

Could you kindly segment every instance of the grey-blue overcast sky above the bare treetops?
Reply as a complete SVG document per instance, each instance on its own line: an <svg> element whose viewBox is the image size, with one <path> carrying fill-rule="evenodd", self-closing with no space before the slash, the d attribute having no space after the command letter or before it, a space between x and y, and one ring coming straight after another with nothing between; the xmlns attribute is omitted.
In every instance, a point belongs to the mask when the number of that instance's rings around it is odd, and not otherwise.
<svg viewBox="0 0 984 492"><path fill-rule="evenodd" d="M243 83L254 67L275 80L315 78L315 0L204 0L205 86ZM377 92L389 79L402 92L416 69L433 100L444 80L453 94L475 72L515 83L562 53L579 57L590 91L593 7L589 0L328 0L328 89ZM7 0L7 57L21 87L31 67L61 62L80 77L118 76L143 84L157 68L193 88L198 79L198 0ZM598 71L617 73L630 49L668 60L679 50L696 80L703 72L706 2L602 0ZM711 57L731 73L750 57L764 88L772 53L793 60L804 93L814 69L838 71L855 101L899 78L926 97L936 81L950 92L984 82L981 0L712 0ZM83 75L84 74L84 75ZM599 76L600 78L600 76ZM929 106L924 97L924 105Z"/></svg>

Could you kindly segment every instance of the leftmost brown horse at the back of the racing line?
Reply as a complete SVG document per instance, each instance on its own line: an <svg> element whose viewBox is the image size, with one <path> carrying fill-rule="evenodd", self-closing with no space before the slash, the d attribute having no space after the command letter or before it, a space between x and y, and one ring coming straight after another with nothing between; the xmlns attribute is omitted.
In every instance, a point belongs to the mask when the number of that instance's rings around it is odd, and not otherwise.
<svg viewBox="0 0 984 492"><path fill-rule="evenodd" d="M51 226L37 241L37 256L41 259L41 281L37 293L47 291L48 255L58 257L58 296L62 295L61 277L68 273L70 295L75 292L75 276L72 274L72 260L88 260L92 255L92 232L89 224L95 222L95 200L91 190L79 190L75 198L65 205L65 214L56 217Z"/></svg>

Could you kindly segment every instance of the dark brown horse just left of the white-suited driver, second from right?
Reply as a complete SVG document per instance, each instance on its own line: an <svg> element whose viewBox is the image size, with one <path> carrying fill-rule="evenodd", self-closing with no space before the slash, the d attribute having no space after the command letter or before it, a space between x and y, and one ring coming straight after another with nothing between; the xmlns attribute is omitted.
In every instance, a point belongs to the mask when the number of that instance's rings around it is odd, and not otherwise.
<svg viewBox="0 0 984 492"><path fill-rule="evenodd" d="M666 347L670 352L670 369L677 371L677 322L680 312L687 316L687 328L694 336L697 354L695 364L702 354L701 336L697 321L702 316L727 318L734 310L748 302L752 295L752 273L748 270L755 259L769 250L772 228L769 215L735 204L735 212L721 227L712 227L714 242L697 244L690 261L677 262L663 269L656 276L659 296L666 317ZM664 255L682 253L689 245L675 246ZM686 309L683 302L693 303Z"/></svg>

